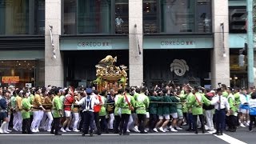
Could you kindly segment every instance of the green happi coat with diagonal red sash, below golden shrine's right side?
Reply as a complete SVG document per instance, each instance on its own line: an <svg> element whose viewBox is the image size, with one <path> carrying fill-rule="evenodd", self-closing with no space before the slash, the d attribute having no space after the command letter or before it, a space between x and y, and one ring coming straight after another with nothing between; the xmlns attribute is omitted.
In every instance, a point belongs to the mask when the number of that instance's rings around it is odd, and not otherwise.
<svg viewBox="0 0 256 144"><path fill-rule="evenodd" d="M134 97L130 96L130 94L126 94L128 101L130 102L131 106L135 107L135 100ZM121 108L121 114L131 114L131 110L129 109L128 102L126 102L126 98L124 95L118 98L118 107Z"/></svg>

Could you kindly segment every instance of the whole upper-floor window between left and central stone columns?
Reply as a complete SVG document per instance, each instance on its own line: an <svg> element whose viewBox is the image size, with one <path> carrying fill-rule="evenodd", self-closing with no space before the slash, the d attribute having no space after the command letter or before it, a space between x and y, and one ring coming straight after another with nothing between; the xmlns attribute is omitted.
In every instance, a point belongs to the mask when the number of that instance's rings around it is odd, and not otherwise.
<svg viewBox="0 0 256 144"><path fill-rule="evenodd" d="M64 0L62 34L128 34L128 0Z"/></svg>

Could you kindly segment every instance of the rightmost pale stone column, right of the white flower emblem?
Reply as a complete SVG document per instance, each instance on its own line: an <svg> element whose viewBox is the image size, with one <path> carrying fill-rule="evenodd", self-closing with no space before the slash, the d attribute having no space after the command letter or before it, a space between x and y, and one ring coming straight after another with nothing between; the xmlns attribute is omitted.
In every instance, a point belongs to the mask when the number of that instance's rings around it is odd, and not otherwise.
<svg viewBox="0 0 256 144"><path fill-rule="evenodd" d="M214 50L211 51L211 85L218 87L218 82L230 86L230 48L229 15L227 0L212 0L212 19ZM224 23L224 42L222 42L221 23ZM226 54L223 54L223 43Z"/></svg>

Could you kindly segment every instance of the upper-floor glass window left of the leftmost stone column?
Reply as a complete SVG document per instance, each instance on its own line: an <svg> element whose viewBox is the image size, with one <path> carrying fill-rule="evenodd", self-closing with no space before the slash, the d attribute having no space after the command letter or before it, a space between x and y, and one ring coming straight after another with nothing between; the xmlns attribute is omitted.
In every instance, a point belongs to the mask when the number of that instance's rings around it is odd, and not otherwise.
<svg viewBox="0 0 256 144"><path fill-rule="evenodd" d="M0 34L44 34L45 0L0 0Z"/></svg>

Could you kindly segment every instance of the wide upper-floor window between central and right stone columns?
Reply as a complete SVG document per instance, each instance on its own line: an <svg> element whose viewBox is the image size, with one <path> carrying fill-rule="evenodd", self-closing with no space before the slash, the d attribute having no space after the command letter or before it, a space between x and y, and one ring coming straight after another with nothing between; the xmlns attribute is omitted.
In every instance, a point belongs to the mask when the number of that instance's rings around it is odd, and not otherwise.
<svg viewBox="0 0 256 144"><path fill-rule="evenodd" d="M210 33L211 0L143 0L143 30L152 33Z"/></svg>

